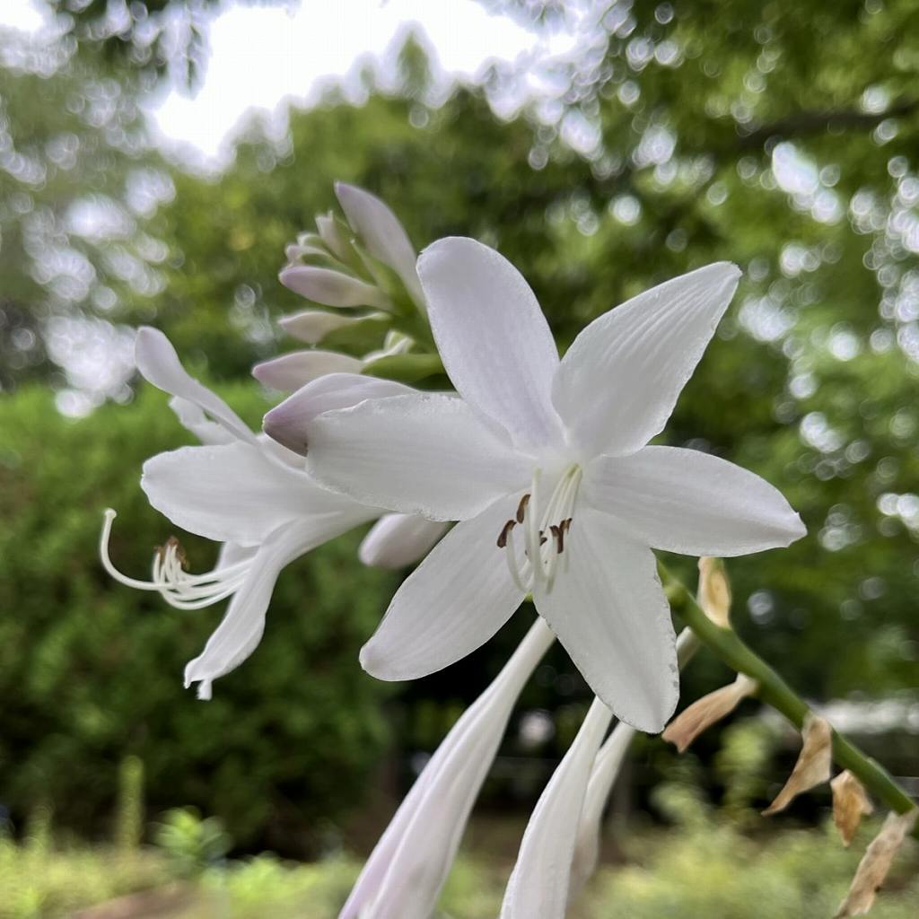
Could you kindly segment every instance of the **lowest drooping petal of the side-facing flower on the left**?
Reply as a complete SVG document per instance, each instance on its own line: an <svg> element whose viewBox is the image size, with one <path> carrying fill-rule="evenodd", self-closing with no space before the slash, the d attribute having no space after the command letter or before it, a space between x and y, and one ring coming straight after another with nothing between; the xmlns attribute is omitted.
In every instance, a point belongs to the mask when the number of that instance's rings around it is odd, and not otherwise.
<svg viewBox="0 0 919 919"><path fill-rule="evenodd" d="M185 685L199 683L199 698L210 698L210 684L228 674L255 651L265 630L265 614L281 569L328 537L312 521L293 523L270 533L252 560L244 584L198 657L185 668Z"/></svg>

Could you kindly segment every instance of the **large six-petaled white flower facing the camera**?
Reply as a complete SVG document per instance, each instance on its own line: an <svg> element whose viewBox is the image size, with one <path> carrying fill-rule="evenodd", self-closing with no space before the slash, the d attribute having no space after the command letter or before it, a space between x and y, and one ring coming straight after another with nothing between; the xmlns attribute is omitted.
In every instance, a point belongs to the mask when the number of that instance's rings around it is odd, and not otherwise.
<svg viewBox="0 0 919 919"><path fill-rule="evenodd" d="M308 468L359 501L459 520L393 598L361 662L382 679L452 664L528 593L596 695L658 732L678 695L652 548L741 555L799 539L788 502L696 450L648 447L695 369L739 271L700 268L607 312L560 361L509 262L469 239L418 261L461 400L414 393L323 414Z"/></svg>

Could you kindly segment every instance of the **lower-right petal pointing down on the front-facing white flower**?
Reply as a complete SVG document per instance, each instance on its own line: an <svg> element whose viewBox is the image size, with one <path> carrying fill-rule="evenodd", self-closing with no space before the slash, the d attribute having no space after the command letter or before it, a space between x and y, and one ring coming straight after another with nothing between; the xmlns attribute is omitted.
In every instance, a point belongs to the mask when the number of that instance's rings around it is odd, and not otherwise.
<svg viewBox="0 0 919 919"><path fill-rule="evenodd" d="M619 720L662 731L676 707L679 675L652 551L582 502L560 561L550 593L542 584L534 592L539 613Z"/></svg>

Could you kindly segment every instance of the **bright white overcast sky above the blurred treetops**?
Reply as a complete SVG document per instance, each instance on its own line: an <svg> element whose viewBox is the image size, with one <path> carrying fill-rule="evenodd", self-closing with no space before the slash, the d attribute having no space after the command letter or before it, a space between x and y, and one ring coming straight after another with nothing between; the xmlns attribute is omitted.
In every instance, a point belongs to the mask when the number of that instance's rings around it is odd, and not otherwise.
<svg viewBox="0 0 919 919"><path fill-rule="evenodd" d="M2 0L0 25L35 30L40 0ZM192 98L176 91L156 100L164 139L207 158L247 108L274 109L285 97L309 99L317 80L344 76L364 55L382 56L408 23L423 28L448 74L475 77L487 62L562 51L507 17L489 16L475 0L302 0L299 8L238 6L210 27L204 85Z"/></svg>

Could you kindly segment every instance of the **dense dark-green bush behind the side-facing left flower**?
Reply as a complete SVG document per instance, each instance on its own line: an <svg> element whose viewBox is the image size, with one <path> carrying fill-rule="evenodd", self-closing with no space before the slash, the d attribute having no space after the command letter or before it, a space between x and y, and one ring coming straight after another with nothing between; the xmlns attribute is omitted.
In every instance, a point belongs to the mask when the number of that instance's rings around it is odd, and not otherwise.
<svg viewBox="0 0 919 919"><path fill-rule="evenodd" d="M265 411L251 388L227 396L256 423ZM355 562L357 534L295 562L261 646L196 700L183 667L222 605L176 611L97 562L108 505L113 560L135 576L174 531L139 487L143 459L192 442L165 403L145 387L71 421L48 392L0 401L0 805L20 821L49 803L62 827L108 835L119 764L136 755L152 812L194 805L241 845L306 853L357 803L386 739L387 689L357 651L392 577ZM210 567L212 544L177 535L193 570Z"/></svg>

